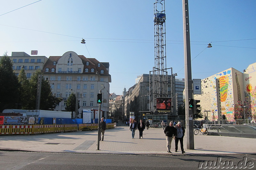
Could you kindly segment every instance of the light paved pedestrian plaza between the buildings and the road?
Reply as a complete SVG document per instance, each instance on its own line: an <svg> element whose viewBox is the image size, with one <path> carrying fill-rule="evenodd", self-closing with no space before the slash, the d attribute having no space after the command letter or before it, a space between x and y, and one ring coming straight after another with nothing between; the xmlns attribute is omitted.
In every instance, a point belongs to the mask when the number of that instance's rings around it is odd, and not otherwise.
<svg viewBox="0 0 256 170"><path fill-rule="evenodd" d="M97 150L98 130L47 133L35 135L1 135L1 151L63 152L63 153L112 153L112 154L181 154L180 144L175 151L172 140L171 152L167 153L163 129L149 128L132 132L128 126L106 129L104 141ZM253 138L194 135L195 149L187 150L184 137L184 154L256 154Z"/></svg>

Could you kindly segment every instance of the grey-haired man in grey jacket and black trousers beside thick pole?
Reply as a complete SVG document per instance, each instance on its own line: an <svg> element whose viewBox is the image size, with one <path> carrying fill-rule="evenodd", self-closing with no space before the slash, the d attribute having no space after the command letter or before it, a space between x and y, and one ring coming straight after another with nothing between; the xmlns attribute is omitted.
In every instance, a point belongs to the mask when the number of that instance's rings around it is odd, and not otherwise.
<svg viewBox="0 0 256 170"><path fill-rule="evenodd" d="M181 125L181 122L178 122L177 125L175 126L175 152L177 152L177 150L178 150L178 143L180 141L181 153L185 153L184 148L183 148L184 135L185 135L185 129Z"/></svg>

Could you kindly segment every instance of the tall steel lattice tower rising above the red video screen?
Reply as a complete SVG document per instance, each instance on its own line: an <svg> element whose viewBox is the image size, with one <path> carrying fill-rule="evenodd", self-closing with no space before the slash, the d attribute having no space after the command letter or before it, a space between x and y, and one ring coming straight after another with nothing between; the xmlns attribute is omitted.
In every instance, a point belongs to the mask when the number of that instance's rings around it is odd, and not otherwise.
<svg viewBox="0 0 256 170"><path fill-rule="evenodd" d="M155 113L156 98L168 97L167 70L166 70L166 41L165 41L165 2L156 0L154 3L154 24L155 24L155 67L153 67L153 79L151 98ZM150 72L149 72L150 73ZM150 76L151 77L151 76Z"/></svg>

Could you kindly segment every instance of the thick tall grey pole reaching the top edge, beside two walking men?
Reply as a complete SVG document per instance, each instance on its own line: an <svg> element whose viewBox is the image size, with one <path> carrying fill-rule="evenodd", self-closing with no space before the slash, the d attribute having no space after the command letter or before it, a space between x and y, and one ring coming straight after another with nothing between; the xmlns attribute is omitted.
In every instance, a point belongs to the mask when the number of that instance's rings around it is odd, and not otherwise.
<svg viewBox="0 0 256 170"><path fill-rule="evenodd" d="M186 113L186 135L187 149L194 148L193 134L193 109L189 109L189 99L193 99L191 54L190 54L190 33L188 17L188 0L182 0L183 7L183 31L184 31L184 59L185 59L185 113Z"/></svg>

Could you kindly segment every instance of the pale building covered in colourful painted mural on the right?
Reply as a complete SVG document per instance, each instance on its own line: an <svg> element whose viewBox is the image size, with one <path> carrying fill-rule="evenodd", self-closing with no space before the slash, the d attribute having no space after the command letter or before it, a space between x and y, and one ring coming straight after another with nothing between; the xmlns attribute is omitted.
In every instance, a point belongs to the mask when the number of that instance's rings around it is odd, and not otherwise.
<svg viewBox="0 0 256 170"><path fill-rule="evenodd" d="M256 63L249 65L244 73L230 68L201 81L202 95L194 98L200 100L202 112L207 111L209 121L222 121L223 115L227 122L256 119L255 68Z"/></svg>

